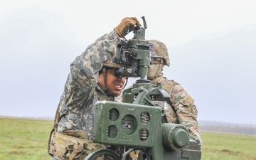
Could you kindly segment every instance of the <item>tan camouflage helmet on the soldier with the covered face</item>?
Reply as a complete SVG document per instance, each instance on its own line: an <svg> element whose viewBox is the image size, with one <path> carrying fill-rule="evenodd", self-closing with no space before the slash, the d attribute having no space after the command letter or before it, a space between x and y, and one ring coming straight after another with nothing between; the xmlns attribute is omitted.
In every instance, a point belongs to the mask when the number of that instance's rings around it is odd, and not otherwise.
<svg viewBox="0 0 256 160"><path fill-rule="evenodd" d="M157 41L157 40L149 40L149 43L153 44L152 51L156 53L156 56L163 58L164 65L167 65L169 67L170 60L169 60L169 54L168 54L168 49L166 45L161 41Z"/></svg>

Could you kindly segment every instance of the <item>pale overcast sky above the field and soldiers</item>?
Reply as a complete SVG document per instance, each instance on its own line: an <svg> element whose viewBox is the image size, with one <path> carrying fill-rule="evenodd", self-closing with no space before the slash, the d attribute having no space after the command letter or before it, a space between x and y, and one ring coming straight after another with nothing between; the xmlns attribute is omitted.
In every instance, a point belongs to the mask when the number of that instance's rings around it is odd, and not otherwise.
<svg viewBox="0 0 256 160"><path fill-rule="evenodd" d="M122 18L145 16L146 39L169 49L164 75L195 99L199 120L256 124L255 15L254 0L5 1L0 115L54 117L75 57Z"/></svg>

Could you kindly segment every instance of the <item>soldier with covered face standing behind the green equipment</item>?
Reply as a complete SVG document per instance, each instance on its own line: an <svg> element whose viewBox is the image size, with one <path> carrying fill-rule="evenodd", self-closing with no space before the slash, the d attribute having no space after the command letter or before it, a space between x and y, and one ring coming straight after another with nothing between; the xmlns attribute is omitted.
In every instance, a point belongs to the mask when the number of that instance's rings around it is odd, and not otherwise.
<svg viewBox="0 0 256 160"><path fill-rule="evenodd" d="M162 73L164 65L169 67L169 55L166 45L161 41L149 40L153 44L152 58L153 65L149 66L148 79L156 85L161 82L162 88L169 93L171 104L169 106L168 118L169 122L185 125L190 132L190 139L201 143L200 131L197 122L198 110L194 104L193 98L188 95L186 90L175 82L168 80Z"/></svg>

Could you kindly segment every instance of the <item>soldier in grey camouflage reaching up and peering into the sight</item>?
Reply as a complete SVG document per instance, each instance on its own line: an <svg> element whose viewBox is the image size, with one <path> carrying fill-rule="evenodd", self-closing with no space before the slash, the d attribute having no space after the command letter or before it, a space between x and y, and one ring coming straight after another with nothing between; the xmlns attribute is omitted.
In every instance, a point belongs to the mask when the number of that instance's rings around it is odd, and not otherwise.
<svg viewBox="0 0 256 160"><path fill-rule="evenodd" d="M114 70L120 66L112 57L124 38L135 27L137 18L124 18L108 34L88 46L82 55L70 64L70 73L55 115L48 143L48 153L56 159L81 160L95 149L92 138L93 113L98 100L115 100L124 87L125 78L116 77Z"/></svg>

